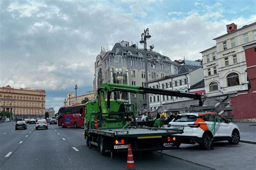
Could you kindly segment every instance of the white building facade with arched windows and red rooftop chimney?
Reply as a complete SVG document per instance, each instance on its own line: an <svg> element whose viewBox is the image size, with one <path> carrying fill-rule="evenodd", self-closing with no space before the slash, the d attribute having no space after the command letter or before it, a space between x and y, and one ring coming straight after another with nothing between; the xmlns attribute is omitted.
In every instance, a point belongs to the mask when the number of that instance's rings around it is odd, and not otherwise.
<svg viewBox="0 0 256 170"><path fill-rule="evenodd" d="M242 46L256 40L256 23L237 29L226 25L227 33L214 38L216 46L200 52L203 55L207 96L248 89L245 52Z"/></svg>

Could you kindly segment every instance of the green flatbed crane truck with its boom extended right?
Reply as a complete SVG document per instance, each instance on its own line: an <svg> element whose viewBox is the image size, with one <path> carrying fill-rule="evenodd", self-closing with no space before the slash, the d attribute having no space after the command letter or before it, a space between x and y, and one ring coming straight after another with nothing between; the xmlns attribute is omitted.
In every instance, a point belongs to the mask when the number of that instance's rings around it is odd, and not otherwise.
<svg viewBox="0 0 256 170"><path fill-rule="evenodd" d="M98 146L100 154L127 151L131 144L133 151L162 151L178 145L175 134L183 133L184 126L176 129L148 128L138 126L136 122L136 105L123 101L111 101L111 93L124 91L138 94L159 94L190 97L199 100L198 94L180 91L152 89L125 84L104 83L98 89L98 100L86 103L84 120L84 137L86 145Z"/></svg>

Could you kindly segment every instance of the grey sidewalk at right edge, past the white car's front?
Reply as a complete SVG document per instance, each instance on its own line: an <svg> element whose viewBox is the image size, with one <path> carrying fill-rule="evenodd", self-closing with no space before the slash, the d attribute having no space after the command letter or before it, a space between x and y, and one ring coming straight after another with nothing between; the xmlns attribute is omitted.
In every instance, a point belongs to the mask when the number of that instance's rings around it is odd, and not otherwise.
<svg viewBox="0 0 256 170"><path fill-rule="evenodd" d="M239 122L240 141L244 143L256 144L256 122Z"/></svg>

